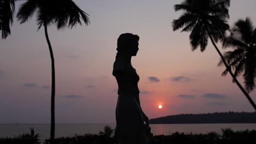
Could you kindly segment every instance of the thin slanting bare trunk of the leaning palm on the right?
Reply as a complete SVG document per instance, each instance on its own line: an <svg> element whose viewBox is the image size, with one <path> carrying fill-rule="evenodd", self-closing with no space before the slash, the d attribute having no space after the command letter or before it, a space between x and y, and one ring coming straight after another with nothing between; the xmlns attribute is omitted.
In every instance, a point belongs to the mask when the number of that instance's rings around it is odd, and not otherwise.
<svg viewBox="0 0 256 144"><path fill-rule="evenodd" d="M246 98L249 100L249 102L251 103L251 105L253 106L254 110L256 111L256 105L254 103L254 101L252 100L252 98L250 97L250 95L246 92L246 90L241 86L241 84L238 82L238 80L236 79L235 75L232 73L229 65L226 63L224 57L222 56L222 53L219 51L218 47L216 46L216 44L213 41L212 35L209 31L209 29L207 28L207 33L212 41L213 46L215 47L215 49L217 50L217 52L219 53L219 56L222 58L222 61L224 63L224 65L226 66L226 69L229 71L229 74L232 76L233 80L236 82L236 85L241 89L241 91L243 92L243 94L245 94Z"/></svg>

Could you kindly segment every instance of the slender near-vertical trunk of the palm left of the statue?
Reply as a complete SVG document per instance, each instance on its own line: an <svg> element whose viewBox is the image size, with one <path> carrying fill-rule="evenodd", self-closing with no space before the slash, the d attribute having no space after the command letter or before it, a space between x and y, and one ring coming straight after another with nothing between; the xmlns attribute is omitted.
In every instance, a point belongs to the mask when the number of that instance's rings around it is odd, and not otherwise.
<svg viewBox="0 0 256 144"><path fill-rule="evenodd" d="M54 55L51 43L48 37L47 25L44 23L44 32L47 44L49 46L51 56L51 132L50 132L50 144L54 143L55 135L55 67L54 67Z"/></svg>

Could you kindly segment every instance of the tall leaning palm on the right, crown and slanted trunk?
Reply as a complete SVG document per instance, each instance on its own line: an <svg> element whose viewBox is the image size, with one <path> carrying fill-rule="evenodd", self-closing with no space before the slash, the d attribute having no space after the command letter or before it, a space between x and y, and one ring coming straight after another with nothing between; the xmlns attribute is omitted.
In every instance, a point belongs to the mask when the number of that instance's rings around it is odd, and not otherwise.
<svg viewBox="0 0 256 144"><path fill-rule="evenodd" d="M210 38L232 79L256 111L253 100L237 81L236 76L232 73L216 45L218 41L223 42L225 40L225 31L229 29L227 23L229 6L230 0L184 0L181 4L174 5L175 11L183 10L184 13L179 19L173 20L173 31L183 28L182 32L191 32L189 39L193 51L199 46L202 52L205 51L208 38Z"/></svg>

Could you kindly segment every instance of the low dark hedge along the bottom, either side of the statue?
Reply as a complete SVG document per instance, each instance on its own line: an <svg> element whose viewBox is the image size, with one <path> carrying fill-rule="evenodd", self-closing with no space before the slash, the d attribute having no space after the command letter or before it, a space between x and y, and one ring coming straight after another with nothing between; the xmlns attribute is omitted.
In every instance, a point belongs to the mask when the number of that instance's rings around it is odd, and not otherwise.
<svg viewBox="0 0 256 144"><path fill-rule="evenodd" d="M228 144L228 143L255 143L256 130L233 131L222 129L222 134L211 132L208 134L193 133L173 133L171 135L156 135L150 144ZM1 144L48 144L49 140L39 141L40 137L34 137L31 134L23 134L14 138L0 138ZM54 141L55 144L114 144L113 136L104 136L96 134L74 135L71 137L59 137Z"/></svg>

